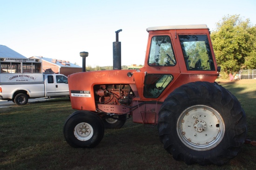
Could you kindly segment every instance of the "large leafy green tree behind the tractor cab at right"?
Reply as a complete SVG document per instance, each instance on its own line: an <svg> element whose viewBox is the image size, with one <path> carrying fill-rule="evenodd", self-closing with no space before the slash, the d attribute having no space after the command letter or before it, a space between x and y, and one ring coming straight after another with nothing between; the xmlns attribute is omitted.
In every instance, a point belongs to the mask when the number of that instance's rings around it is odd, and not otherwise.
<svg viewBox="0 0 256 170"><path fill-rule="evenodd" d="M240 15L223 17L211 33L216 61L229 74L240 69L256 68L256 26Z"/></svg>

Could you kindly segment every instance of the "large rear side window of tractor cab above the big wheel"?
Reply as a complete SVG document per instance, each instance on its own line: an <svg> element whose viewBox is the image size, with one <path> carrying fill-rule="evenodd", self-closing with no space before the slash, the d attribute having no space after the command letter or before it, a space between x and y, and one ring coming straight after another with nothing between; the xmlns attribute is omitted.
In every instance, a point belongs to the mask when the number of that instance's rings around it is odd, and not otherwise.
<svg viewBox="0 0 256 170"><path fill-rule="evenodd" d="M215 70L207 35L179 35L187 70Z"/></svg>

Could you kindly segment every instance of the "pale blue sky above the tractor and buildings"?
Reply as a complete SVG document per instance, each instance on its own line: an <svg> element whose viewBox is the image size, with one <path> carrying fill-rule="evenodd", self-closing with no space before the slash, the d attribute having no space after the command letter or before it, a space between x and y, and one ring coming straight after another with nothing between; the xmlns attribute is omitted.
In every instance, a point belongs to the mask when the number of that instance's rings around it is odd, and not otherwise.
<svg viewBox="0 0 256 170"><path fill-rule="evenodd" d="M121 64L144 64L151 26L206 24L240 15L256 25L256 0L0 0L0 44L25 57L86 66L113 65L115 31Z"/></svg>

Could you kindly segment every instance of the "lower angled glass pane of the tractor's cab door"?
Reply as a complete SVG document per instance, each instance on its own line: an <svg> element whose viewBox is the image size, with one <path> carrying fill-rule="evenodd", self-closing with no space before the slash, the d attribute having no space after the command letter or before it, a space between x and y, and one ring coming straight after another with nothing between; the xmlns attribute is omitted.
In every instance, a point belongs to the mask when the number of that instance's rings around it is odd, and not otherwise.
<svg viewBox="0 0 256 170"><path fill-rule="evenodd" d="M172 75L148 74L145 76L143 95L146 98L157 98L173 80Z"/></svg>

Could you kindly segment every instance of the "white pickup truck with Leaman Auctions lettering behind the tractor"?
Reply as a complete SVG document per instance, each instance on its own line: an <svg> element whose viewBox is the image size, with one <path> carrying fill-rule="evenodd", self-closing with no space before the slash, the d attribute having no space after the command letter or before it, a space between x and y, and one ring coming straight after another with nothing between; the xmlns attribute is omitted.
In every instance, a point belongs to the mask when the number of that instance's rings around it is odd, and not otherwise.
<svg viewBox="0 0 256 170"><path fill-rule="evenodd" d="M67 77L61 74L0 74L0 100L26 105L28 99L69 96Z"/></svg>

